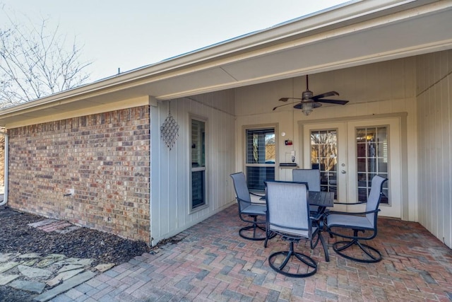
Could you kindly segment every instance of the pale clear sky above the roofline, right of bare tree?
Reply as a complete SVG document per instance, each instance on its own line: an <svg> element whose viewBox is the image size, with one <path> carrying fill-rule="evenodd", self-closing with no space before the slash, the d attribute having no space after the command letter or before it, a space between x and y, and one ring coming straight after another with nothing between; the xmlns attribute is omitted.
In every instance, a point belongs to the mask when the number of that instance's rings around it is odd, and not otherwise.
<svg viewBox="0 0 452 302"><path fill-rule="evenodd" d="M82 48L90 81L154 64L343 4L344 0L0 0L59 26ZM1 24L1 16L0 16ZM69 39L71 38L71 39Z"/></svg>

